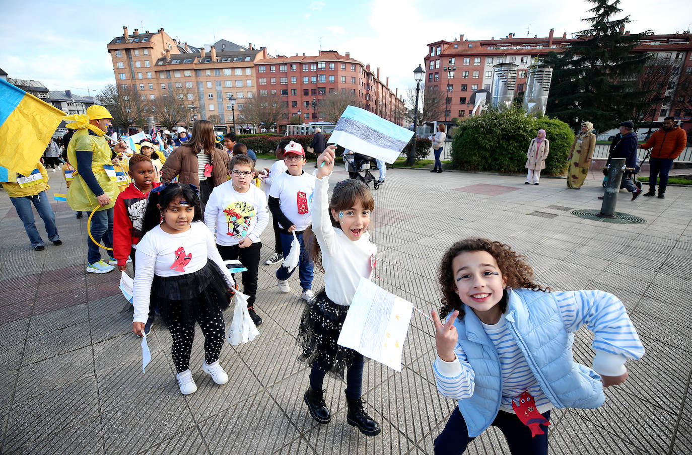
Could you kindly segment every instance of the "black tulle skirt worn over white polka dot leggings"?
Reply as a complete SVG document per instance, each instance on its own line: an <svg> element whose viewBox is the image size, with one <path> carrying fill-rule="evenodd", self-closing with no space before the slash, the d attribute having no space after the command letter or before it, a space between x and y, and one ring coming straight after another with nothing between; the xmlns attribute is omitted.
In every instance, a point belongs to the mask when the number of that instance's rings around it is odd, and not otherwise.
<svg viewBox="0 0 692 455"><path fill-rule="evenodd" d="M228 291L224 274L214 261L197 272L159 277L152 281L152 305L158 306L161 318L167 326L194 324L208 320L225 310L233 296Z"/></svg>

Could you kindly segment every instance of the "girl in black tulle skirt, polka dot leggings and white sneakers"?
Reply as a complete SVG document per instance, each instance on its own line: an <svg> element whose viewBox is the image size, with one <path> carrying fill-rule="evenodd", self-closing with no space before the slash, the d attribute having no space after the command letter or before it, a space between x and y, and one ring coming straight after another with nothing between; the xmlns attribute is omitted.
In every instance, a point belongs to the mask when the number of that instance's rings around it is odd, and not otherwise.
<svg viewBox="0 0 692 455"><path fill-rule="evenodd" d="M197 321L205 337L202 370L217 384L226 384L228 375L219 365L226 331L221 310L228 308L235 282L202 221L197 192L179 183L152 189L142 232L137 245L132 330L142 335L149 301L156 299L173 339L171 354L180 391L188 395L197 391L190 371Z"/></svg>

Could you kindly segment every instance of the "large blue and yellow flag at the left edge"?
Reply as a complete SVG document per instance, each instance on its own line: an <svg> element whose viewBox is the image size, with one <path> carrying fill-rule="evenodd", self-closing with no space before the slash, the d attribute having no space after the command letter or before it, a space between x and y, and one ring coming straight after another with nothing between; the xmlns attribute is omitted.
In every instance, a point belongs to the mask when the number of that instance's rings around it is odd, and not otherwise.
<svg viewBox="0 0 692 455"><path fill-rule="evenodd" d="M0 166L31 174L64 115L0 79Z"/></svg>

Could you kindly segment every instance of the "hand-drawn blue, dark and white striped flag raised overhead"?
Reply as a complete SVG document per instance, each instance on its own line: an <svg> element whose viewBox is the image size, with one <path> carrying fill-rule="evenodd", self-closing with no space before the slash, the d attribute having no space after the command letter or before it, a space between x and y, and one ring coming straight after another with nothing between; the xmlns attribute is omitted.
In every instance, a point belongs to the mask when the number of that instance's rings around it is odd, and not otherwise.
<svg viewBox="0 0 692 455"><path fill-rule="evenodd" d="M394 163L412 136L413 131L379 115L356 106L347 106L329 137L329 143Z"/></svg>

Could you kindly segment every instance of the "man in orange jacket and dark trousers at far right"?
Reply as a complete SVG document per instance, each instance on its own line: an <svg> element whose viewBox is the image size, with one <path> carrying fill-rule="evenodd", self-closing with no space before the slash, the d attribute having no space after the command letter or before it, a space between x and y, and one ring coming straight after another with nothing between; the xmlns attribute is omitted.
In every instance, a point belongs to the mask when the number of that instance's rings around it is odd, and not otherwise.
<svg viewBox="0 0 692 455"><path fill-rule="evenodd" d="M651 150L649 160L649 190L644 196L656 195L656 178L661 177L658 185L658 198L666 197L666 185L668 185L668 172L671 171L673 160L682 154L687 144L685 130L675 124L675 117L666 117L663 127L651 135L646 144L639 145L639 149Z"/></svg>

